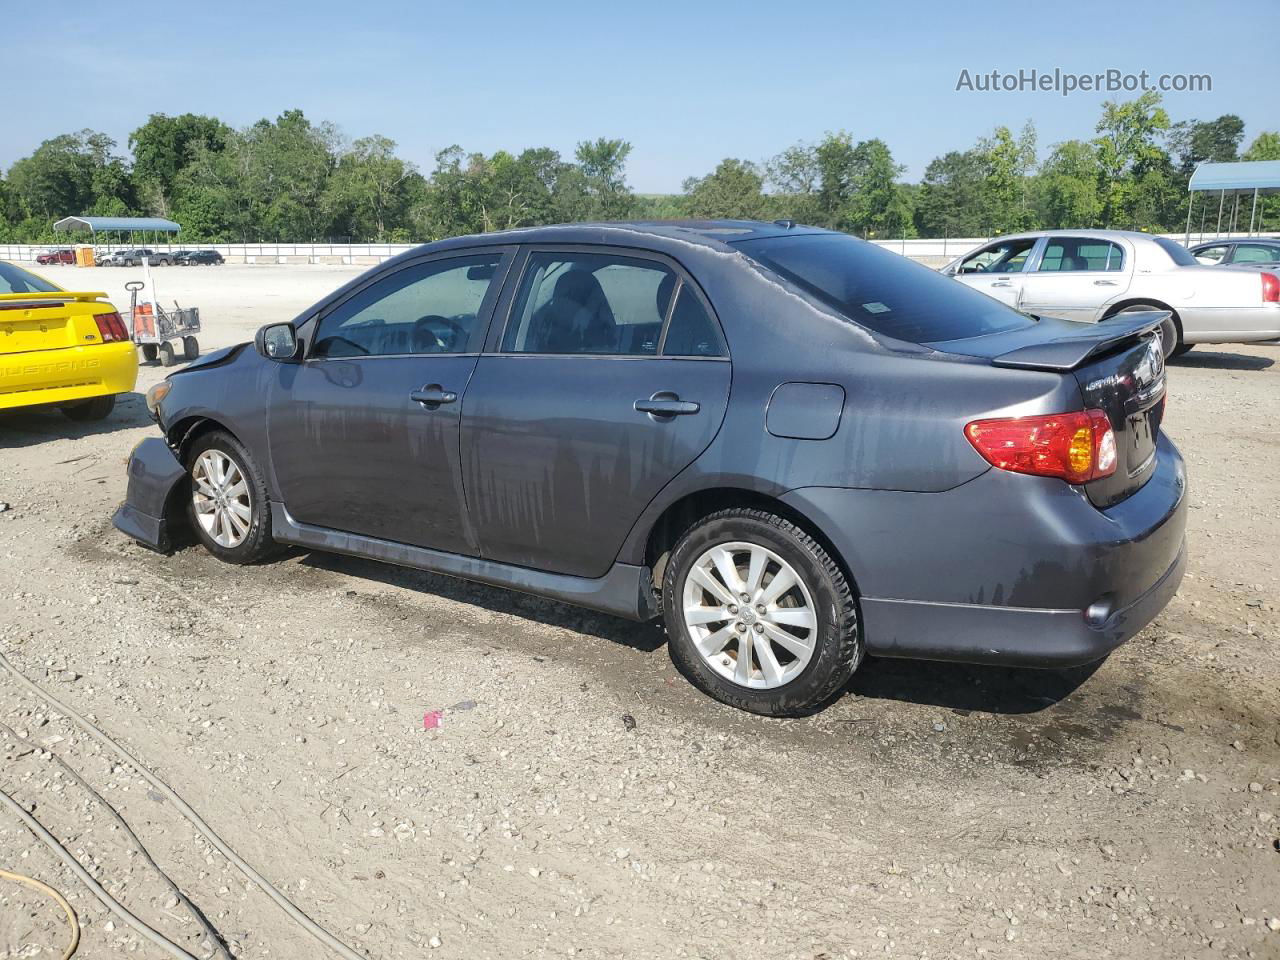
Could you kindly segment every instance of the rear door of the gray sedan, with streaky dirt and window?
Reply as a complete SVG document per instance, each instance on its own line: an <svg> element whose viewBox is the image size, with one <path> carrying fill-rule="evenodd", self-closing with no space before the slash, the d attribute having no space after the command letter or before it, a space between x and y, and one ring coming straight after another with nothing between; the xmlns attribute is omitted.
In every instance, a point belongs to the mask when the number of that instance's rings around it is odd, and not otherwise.
<svg viewBox="0 0 1280 960"><path fill-rule="evenodd" d="M536 247L518 271L462 407L480 553L603 576L719 430L728 353L701 292L664 257Z"/></svg>

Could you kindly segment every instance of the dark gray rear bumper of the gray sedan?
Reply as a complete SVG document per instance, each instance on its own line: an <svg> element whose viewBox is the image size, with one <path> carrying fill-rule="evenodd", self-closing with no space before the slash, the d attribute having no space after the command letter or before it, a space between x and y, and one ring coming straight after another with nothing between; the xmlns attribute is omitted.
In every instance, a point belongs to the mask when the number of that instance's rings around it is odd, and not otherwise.
<svg viewBox="0 0 1280 960"><path fill-rule="evenodd" d="M882 657L1065 667L1149 623L1185 568L1185 467L1161 435L1157 468L1107 509L1060 480L989 470L943 493L806 488L814 521L861 595Z"/></svg>

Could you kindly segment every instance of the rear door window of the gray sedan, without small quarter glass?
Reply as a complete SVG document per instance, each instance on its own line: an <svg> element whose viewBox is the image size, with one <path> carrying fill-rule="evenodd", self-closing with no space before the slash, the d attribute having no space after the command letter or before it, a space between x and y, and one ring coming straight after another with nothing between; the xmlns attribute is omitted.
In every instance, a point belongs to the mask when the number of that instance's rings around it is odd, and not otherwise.
<svg viewBox="0 0 1280 960"><path fill-rule="evenodd" d="M614 253L535 252L502 339L504 353L655 356L675 271Z"/></svg>

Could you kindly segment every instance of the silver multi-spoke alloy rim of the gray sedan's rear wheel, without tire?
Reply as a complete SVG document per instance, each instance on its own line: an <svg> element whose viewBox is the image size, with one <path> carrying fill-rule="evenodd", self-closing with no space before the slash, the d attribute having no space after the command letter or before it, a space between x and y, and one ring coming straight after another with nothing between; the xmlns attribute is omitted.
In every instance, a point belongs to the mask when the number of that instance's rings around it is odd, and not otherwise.
<svg viewBox="0 0 1280 960"><path fill-rule="evenodd" d="M769 690L813 659L818 614L795 567L753 543L722 543L685 575L685 626L707 664L739 686Z"/></svg>

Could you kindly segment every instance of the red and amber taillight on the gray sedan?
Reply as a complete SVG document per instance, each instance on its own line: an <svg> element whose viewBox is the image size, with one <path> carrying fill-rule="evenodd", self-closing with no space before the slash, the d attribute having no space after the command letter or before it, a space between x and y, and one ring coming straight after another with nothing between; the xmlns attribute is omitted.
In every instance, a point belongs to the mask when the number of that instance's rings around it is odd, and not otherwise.
<svg viewBox="0 0 1280 960"><path fill-rule="evenodd" d="M1087 484L1116 470L1116 438L1101 410L974 420L964 433L988 463L1015 474Z"/></svg>

